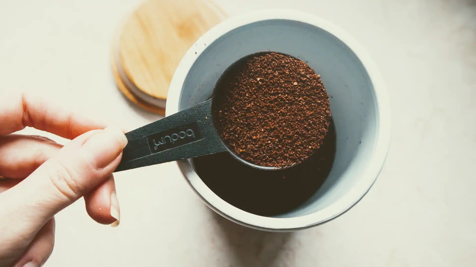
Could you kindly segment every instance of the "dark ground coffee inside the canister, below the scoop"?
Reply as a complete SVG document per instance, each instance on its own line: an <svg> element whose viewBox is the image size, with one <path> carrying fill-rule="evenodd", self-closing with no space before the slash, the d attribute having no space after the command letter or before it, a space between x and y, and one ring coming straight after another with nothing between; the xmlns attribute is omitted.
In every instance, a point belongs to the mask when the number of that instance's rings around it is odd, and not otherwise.
<svg viewBox="0 0 476 267"><path fill-rule="evenodd" d="M334 123L323 144L304 162L282 170L258 170L227 152L193 158L195 171L218 197L247 212L275 216L311 198L330 172L336 153Z"/></svg>

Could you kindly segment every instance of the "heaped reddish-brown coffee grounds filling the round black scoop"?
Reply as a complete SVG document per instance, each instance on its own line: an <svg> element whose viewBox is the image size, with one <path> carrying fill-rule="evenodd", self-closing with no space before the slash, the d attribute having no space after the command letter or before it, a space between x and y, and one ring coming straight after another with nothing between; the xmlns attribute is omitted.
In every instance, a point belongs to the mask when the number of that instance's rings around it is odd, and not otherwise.
<svg viewBox="0 0 476 267"><path fill-rule="evenodd" d="M294 165L312 155L326 136L329 98L320 76L302 60L257 55L233 66L217 87L218 132L248 162Z"/></svg>

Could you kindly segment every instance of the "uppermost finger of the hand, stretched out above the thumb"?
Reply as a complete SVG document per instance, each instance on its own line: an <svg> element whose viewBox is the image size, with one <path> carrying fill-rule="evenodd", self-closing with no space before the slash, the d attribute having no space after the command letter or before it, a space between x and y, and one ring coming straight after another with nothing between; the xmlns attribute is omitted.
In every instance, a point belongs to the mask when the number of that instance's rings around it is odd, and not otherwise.
<svg viewBox="0 0 476 267"><path fill-rule="evenodd" d="M106 125L55 104L25 93L0 96L0 135L7 135L25 127L47 131L63 138L73 139Z"/></svg>

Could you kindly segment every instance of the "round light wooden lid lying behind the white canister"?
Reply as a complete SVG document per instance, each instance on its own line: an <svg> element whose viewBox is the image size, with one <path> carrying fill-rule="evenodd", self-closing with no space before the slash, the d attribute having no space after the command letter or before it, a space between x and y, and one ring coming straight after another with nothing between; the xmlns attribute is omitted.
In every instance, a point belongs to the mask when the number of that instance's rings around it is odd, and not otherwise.
<svg viewBox="0 0 476 267"><path fill-rule="evenodd" d="M165 114L178 63L225 17L210 0L144 2L124 22L111 50L111 69L120 91L139 107Z"/></svg>

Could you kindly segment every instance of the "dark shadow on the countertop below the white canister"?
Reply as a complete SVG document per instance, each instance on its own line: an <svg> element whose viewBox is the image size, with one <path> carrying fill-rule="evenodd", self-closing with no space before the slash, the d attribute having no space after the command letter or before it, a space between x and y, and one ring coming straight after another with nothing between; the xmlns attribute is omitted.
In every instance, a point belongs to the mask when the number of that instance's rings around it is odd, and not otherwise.
<svg viewBox="0 0 476 267"><path fill-rule="evenodd" d="M215 211L213 220L223 231L224 242L228 243L233 267L269 267L278 261L279 255L285 251L287 243L293 238L293 232L276 233L251 229L222 217ZM238 265L236 265L238 264Z"/></svg>

